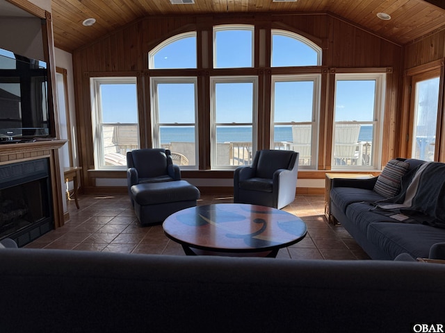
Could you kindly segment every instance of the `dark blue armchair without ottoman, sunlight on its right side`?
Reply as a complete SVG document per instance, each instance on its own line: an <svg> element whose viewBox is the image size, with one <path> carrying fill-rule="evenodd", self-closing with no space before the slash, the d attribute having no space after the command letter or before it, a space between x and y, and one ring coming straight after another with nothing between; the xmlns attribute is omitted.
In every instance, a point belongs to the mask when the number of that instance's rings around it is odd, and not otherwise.
<svg viewBox="0 0 445 333"><path fill-rule="evenodd" d="M234 203L282 208L296 196L298 153L257 151L252 166L234 173Z"/></svg>

